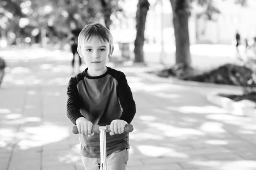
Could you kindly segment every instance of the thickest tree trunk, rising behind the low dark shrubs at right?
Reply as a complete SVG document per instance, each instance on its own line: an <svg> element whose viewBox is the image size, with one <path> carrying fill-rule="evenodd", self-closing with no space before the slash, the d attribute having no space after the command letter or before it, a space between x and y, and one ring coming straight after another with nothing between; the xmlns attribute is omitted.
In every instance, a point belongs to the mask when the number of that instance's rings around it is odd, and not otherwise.
<svg viewBox="0 0 256 170"><path fill-rule="evenodd" d="M175 34L176 64L191 65L189 43L189 0L170 0Z"/></svg>

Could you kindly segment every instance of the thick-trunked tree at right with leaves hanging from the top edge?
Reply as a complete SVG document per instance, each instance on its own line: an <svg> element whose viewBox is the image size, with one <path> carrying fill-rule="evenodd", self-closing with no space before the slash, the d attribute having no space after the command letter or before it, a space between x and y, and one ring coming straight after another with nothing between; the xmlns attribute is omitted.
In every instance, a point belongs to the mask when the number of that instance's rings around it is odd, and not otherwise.
<svg viewBox="0 0 256 170"><path fill-rule="evenodd" d="M170 0L175 32L176 64L183 64L185 65L184 68L191 67L188 19L192 9L191 3L193 1L196 1L199 6L206 7L201 15L206 15L208 20L213 20L212 14L220 13L218 8L214 6L213 0ZM246 2L247 0L235 1L235 3L242 6L245 6Z"/></svg>

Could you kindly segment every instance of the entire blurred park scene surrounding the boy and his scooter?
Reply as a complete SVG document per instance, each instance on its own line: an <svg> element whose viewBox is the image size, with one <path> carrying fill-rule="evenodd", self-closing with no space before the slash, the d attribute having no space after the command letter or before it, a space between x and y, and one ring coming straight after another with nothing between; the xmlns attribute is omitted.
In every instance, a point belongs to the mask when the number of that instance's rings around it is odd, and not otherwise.
<svg viewBox="0 0 256 170"><path fill-rule="evenodd" d="M128 170L256 170L255 0L1 0L0 170L82 170L67 83L87 23L137 113Z"/></svg>

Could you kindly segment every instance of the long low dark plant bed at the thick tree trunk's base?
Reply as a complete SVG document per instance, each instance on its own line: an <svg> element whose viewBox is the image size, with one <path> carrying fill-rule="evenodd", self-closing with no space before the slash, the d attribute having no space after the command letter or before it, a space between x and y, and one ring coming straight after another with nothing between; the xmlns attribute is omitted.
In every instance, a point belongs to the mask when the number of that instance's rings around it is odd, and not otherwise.
<svg viewBox="0 0 256 170"><path fill-rule="evenodd" d="M183 80L209 82L223 85L238 85L244 88L245 94L250 94L256 88L256 73L251 61L242 65L225 64L211 71L199 73L195 69L183 64L175 65L172 68L157 72L161 77L177 77ZM254 67L256 62L254 62Z"/></svg>

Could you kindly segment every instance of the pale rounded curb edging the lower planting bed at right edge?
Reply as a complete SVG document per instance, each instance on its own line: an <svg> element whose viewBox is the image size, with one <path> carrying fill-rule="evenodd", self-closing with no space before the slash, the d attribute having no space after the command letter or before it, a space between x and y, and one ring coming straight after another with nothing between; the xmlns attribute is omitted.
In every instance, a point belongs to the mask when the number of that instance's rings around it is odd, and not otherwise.
<svg viewBox="0 0 256 170"><path fill-rule="evenodd" d="M207 95L207 100L212 104L230 111L233 115L251 117L253 118L253 122L256 123L256 103L250 100L236 102L227 97L219 96L218 94L221 93L241 95L241 93L235 91L215 91Z"/></svg>

